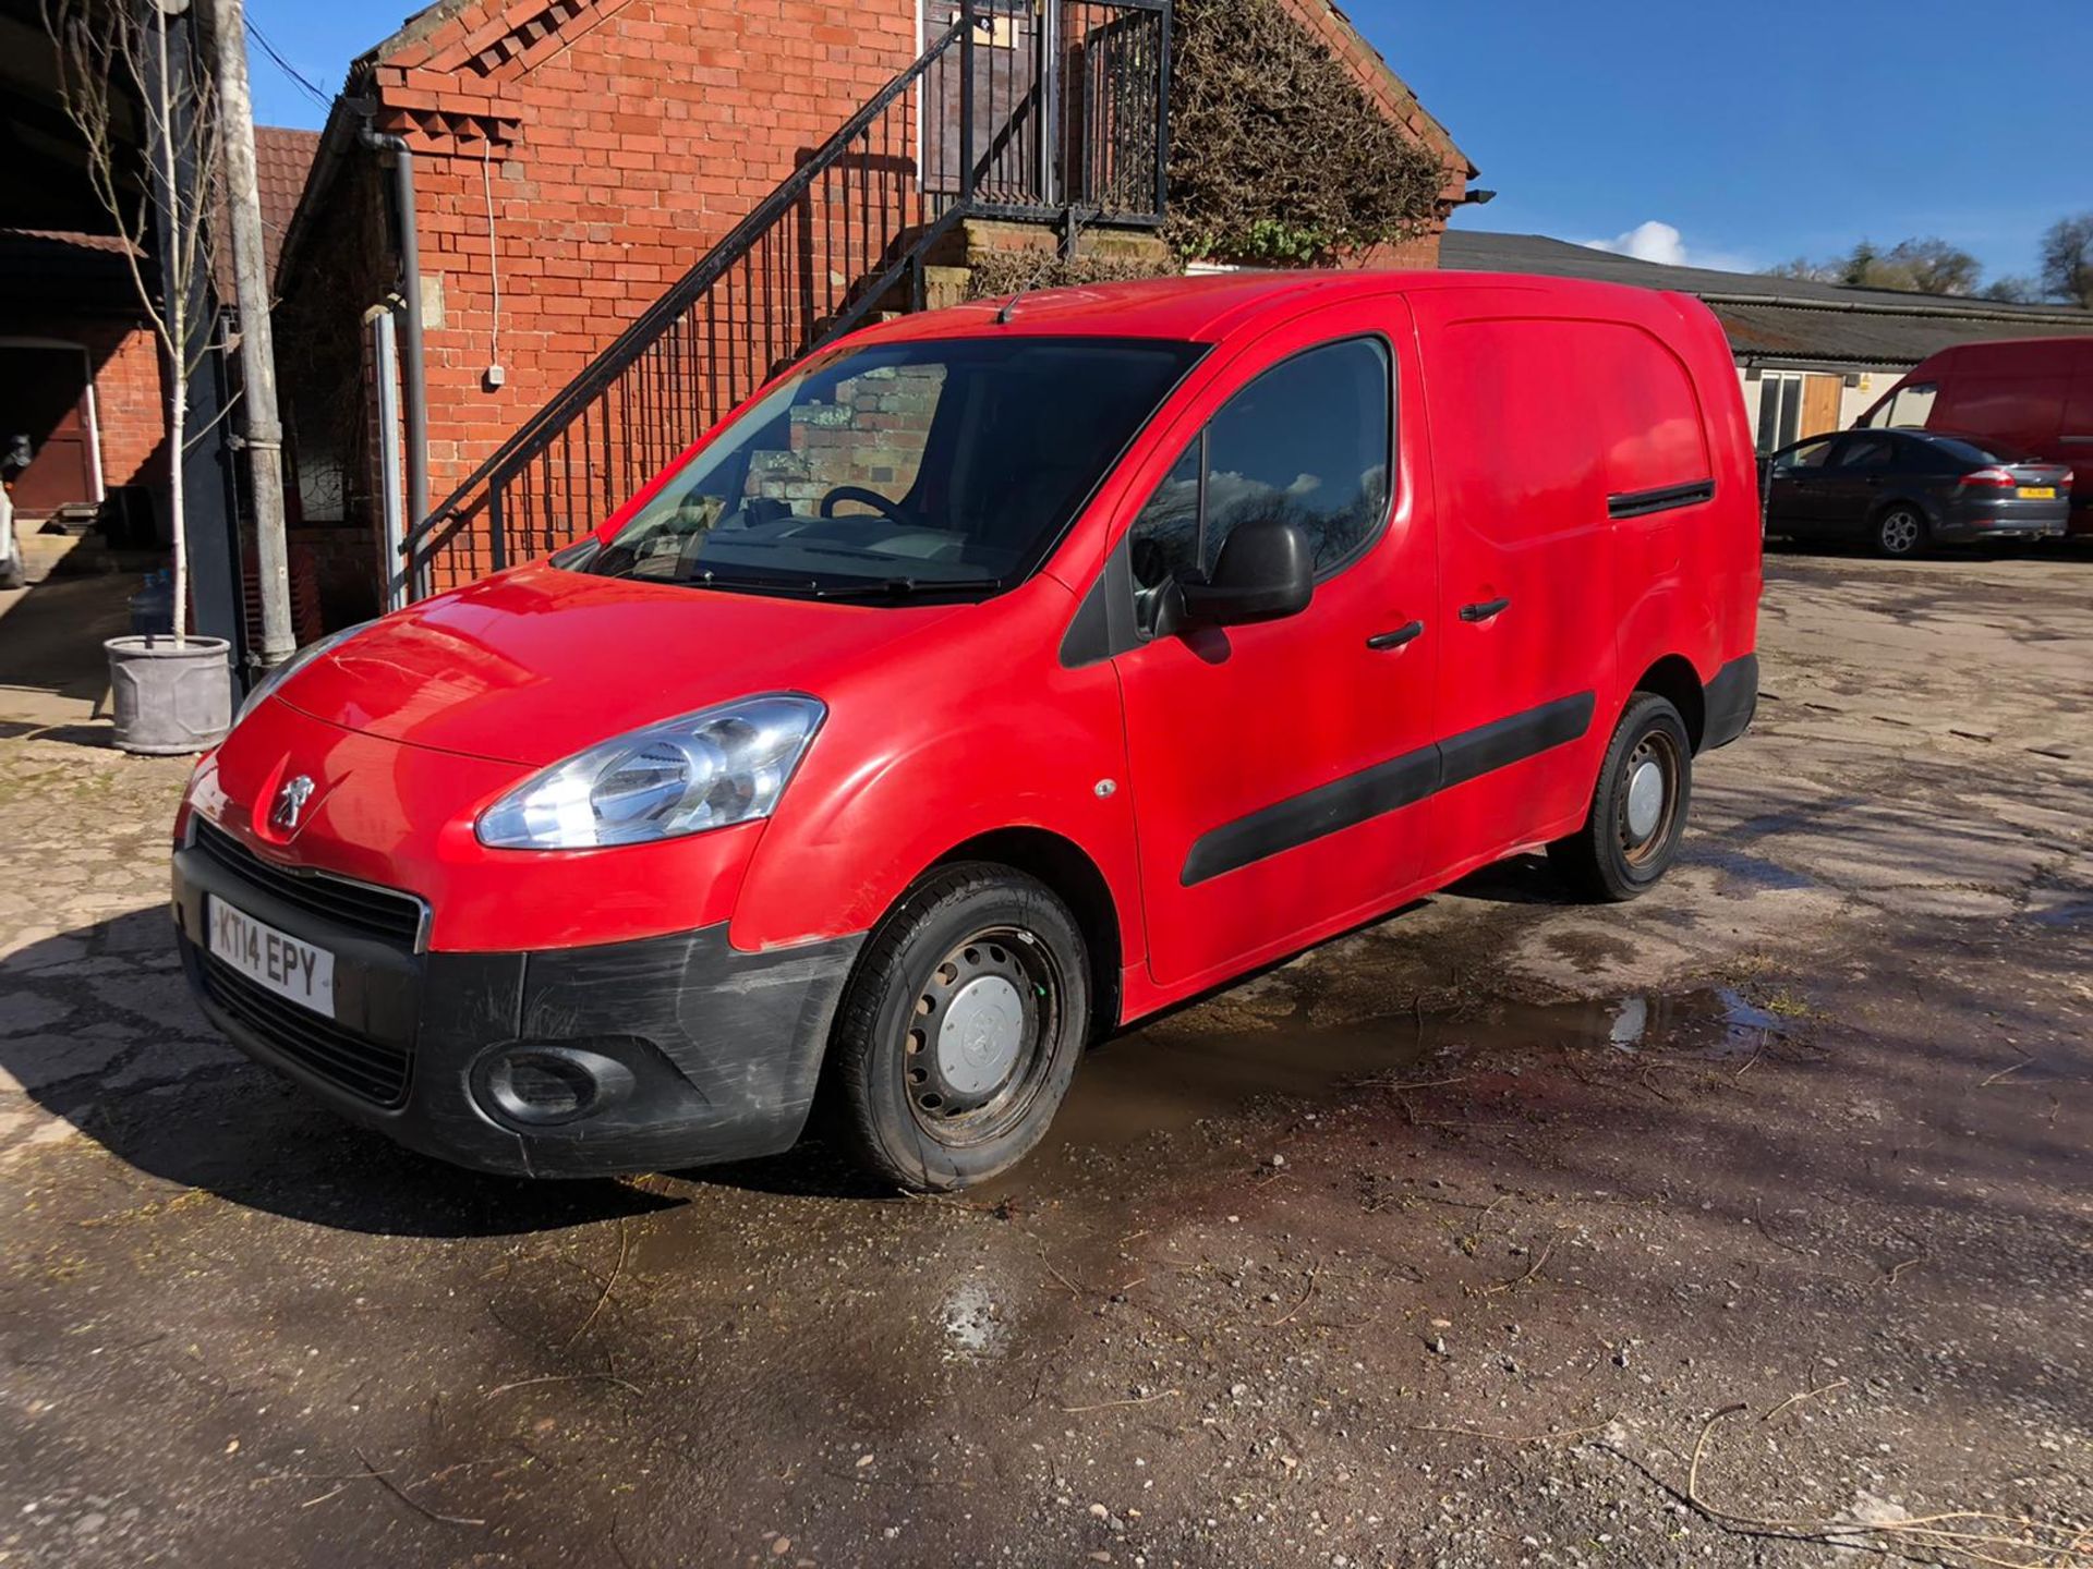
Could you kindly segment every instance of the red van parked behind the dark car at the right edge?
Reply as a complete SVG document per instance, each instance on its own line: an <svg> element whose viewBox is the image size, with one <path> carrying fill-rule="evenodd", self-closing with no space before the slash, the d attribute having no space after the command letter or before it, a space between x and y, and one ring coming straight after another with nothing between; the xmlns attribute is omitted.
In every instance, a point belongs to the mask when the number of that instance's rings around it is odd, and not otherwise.
<svg viewBox="0 0 2093 1569"><path fill-rule="evenodd" d="M1978 435L2068 462L2070 533L2093 533L2093 335L1940 349L1890 387L1861 425Z"/></svg>

